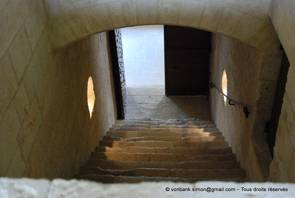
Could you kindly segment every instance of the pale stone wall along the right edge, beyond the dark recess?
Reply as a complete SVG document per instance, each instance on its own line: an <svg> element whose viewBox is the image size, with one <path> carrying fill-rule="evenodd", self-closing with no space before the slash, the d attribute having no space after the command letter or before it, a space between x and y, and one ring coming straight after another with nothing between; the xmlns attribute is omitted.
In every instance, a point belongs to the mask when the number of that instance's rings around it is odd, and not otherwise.
<svg viewBox="0 0 295 198"><path fill-rule="evenodd" d="M273 0L270 16L290 62L269 180L295 182L295 1Z"/></svg>

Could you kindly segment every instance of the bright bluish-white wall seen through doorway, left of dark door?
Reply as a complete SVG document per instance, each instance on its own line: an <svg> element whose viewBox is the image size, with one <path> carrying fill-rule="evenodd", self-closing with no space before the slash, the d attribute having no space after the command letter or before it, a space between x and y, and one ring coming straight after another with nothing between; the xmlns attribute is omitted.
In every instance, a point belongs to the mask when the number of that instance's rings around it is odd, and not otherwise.
<svg viewBox="0 0 295 198"><path fill-rule="evenodd" d="M164 87L164 26L122 28L126 86Z"/></svg>

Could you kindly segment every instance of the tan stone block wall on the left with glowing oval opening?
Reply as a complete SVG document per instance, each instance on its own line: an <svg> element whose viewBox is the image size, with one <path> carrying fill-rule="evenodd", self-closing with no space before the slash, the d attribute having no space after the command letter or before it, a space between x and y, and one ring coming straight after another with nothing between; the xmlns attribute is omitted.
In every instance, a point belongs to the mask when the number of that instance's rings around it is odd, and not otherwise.
<svg viewBox="0 0 295 198"><path fill-rule="evenodd" d="M52 51L43 0L0 2L0 176L72 178L117 116L107 35Z"/></svg>

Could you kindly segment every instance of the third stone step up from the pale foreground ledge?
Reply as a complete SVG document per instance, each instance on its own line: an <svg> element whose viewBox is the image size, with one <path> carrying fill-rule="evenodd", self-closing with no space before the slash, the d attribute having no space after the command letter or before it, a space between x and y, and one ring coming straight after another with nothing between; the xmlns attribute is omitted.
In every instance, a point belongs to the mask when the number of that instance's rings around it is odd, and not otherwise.
<svg viewBox="0 0 295 198"><path fill-rule="evenodd" d="M134 168L167 168L167 169L236 169L237 161L181 161L181 162L141 162L119 161L110 159L89 159L88 167L100 167L102 169L134 169ZM84 170L85 167L82 167ZM81 169L81 170L82 170ZM90 173L88 173L90 174Z"/></svg>

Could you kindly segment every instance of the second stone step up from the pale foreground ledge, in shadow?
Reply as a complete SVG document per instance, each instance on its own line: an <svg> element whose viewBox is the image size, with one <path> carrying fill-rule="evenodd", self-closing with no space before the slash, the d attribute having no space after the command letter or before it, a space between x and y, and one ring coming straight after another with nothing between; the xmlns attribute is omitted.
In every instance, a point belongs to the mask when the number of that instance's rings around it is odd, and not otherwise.
<svg viewBox="0 0 295 198"><path fill-rule="evenodd" d="M225 179L243 177L241 169L167 169L167 168L135 168L125 170L102 169L99 167L83 167L80 175L114 175L114 176L147 176L147 177L184 177L202 179Z"/></svg>

